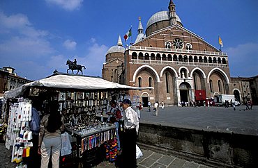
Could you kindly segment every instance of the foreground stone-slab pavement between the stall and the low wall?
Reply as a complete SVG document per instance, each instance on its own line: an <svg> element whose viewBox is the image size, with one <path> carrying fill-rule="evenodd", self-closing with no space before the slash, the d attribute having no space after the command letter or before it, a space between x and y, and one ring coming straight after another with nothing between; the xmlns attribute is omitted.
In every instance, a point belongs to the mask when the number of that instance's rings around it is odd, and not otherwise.
<svg viewBox="0 0 258 168"><path fill-rule="evenodd" d="M142 150L143 156L137 159L138 168L208 168L197 162L189 162L176 156L168 156L150 150ZM114 163L102 162L96 168L114 168Z"/></svg>

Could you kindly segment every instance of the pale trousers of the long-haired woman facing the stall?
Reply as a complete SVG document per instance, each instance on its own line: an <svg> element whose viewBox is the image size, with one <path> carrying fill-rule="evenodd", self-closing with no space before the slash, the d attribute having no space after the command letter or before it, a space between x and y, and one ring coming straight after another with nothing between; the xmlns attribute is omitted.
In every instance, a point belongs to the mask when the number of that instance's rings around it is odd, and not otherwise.
<svg viewBox="0 0 258 168"><path fill-rule="evenodd" d="M43 138L41 144L41 168L47 168L52 154L52 167L59 168L61 137Z"/></svg>

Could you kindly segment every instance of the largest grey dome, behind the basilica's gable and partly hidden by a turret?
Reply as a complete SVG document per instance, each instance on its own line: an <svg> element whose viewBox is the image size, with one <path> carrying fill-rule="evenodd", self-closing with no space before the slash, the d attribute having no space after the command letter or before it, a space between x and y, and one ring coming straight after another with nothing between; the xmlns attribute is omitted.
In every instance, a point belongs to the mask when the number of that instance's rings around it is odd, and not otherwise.
<svg viewBox="0 0 258 168"><path fill-rule="evenodd" d="M164 21L164 20L169 20L169 12L168 11L156 12L154 15L151 16L151 18L147 22L146 28L148 28L152 24L155 24L157 22ZM176 15L176 21L182 24L181 19L179 18L178 15Z"/></svg>

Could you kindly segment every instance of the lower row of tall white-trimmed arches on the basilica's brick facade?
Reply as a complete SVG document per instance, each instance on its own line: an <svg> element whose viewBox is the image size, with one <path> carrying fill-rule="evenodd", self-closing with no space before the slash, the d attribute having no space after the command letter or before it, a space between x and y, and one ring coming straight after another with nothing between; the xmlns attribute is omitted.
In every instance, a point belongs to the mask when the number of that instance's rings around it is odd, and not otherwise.
<svg viewBox="0 0 258 168"><path fill-rule="evenodd" d="M206 73L201 68L190 70L187 67L176 69L167 66L160 71L157 69L142 66L135 71L133 81L135 86L155 88L155 90L137 91L139 95L142 95L141 101L144 105L148 101L151 103L164 101L166 105L180 106L181 101L209 99L218 93L229 94L228 78L222 69L215 68ZM199 97L200 92L202 92L201 97Z"/></svg>

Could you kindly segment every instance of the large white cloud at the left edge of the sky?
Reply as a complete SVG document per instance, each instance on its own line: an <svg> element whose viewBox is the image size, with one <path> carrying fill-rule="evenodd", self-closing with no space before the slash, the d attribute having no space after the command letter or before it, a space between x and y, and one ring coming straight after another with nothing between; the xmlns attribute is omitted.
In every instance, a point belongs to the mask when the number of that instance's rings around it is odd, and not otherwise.
<svg viewBox="0 0 258 168"><path fill-rule="evenodd" d="M33 28L26 15L7 16L0 12L0 30L4 32L0 33L0 53L5 61L33 60L54 52L47 31Z"/></svg>

